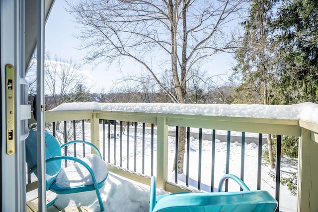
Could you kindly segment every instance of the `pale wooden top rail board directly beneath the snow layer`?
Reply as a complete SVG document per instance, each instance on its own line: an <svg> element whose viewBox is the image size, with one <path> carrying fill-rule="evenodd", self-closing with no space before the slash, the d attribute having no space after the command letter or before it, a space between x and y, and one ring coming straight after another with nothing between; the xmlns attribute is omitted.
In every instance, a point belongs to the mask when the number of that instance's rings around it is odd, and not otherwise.
<svg viewBox="0 0 318 212"><path fill-rule="evenodd" d="M47 111L46 122L91 119L95 115L98 119L133 121L157 124L158 117L164 117L169 126L184 126L194 128L230 130L250 133L276 134L300 136L301 127L298 120L223 117L209 115L162 114L127 111Z"/></svg>

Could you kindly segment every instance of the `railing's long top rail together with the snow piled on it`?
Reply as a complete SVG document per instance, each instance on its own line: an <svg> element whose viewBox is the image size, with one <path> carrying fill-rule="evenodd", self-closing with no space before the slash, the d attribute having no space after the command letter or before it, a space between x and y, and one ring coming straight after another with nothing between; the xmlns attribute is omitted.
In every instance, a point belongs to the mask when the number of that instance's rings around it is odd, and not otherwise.
<svg viewBox="0 0 318 212"><path fill-rule="evenodd" d="M91 119L95 116L99 119L157 123L158 117L164 117L166 124L172 126L300 136L301 127L307 126L318 132L318 124L302 120L311 119L308 113L303 112L309 109L314 114L318 113L318 105L314 103L203 105L89 102L62 104L46 111L45 119L52 122Z"/></svg>

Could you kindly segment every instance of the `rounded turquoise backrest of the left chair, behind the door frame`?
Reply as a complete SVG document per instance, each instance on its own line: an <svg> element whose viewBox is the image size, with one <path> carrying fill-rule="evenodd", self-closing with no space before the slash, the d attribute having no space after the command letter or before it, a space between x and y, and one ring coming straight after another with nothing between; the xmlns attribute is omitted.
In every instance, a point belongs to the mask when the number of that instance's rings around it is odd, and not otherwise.
<svg viewBox="0 0 318 212"><path fill-rule="evenodd" d="M30 131L29 137L25 140L26 163L32 172L37 176L37 131ZM45 133L45 159L61 156L61 146L59 142L49 133ZM46 163L45 180L46 190L55 181L56 176L62 168L61 160L54 160Z"/></svg>

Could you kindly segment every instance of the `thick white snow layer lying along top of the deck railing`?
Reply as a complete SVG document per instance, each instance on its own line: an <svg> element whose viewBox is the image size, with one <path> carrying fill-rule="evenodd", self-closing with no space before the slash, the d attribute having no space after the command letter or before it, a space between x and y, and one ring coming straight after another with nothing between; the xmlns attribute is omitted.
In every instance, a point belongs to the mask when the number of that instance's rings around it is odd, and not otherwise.
<svg viewBox="0 0 318 212"><path fill-rule="evenodd" d="M318 105L173 104L173 103L65 103L51 111L108 110L143 113L190 114L226 117L303 120L318 124Z"/></svg>

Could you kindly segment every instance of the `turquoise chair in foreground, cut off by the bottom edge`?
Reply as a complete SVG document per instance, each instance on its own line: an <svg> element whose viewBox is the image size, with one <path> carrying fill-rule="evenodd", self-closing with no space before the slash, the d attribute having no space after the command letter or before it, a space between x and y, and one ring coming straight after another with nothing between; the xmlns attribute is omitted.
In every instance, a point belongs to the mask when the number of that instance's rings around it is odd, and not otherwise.
<svg viewBox="0 0 318 212"><path fill-rule="evenodd" d="M243 191L221 192L227 179L235 180ZM156 197L156 178L151 178L149 212L274 212L277 201L267 191L250 191L237 176L224 175L219 192L176 193Z"/></svg>

